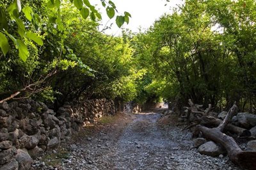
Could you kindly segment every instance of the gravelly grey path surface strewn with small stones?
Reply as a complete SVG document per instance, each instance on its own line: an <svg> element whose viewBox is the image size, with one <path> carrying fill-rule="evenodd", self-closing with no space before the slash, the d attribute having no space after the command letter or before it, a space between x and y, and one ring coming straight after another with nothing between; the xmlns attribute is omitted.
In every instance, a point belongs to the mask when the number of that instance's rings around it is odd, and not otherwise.
<svg viewBox="0 0 256 170"><path fill-rule="evenodd" d="M191 133L159 125L161 114L124 114L45 155L37 169L239 169L228 157L200 155ZM51 164L51 166L47 166Z"/></svg>

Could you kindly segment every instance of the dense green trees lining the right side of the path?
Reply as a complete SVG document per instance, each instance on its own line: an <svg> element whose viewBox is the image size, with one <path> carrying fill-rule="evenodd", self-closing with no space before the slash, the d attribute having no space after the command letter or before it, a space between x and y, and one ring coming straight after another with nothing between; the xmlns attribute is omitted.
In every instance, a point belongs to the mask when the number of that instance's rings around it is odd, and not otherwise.
<svg viewBox="0 0 256 170"><path fill-rule="evenodd" d="M214 104L237 101L252 109L255 98L255 22L252 0L187 0L134 39L138 63L167 100ZM226 102L223 102L225 100Z"/></svg>

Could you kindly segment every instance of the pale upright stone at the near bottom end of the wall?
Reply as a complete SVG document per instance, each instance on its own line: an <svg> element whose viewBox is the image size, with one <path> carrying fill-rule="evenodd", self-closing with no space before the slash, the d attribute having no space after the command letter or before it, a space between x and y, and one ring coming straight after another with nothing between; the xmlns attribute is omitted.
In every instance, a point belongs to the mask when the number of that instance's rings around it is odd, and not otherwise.
<svg viewBox="0 0 256 170"><path fill-rule="evenodd" d="M19 163L20 170L30 169L31 163L33 162L32 158L29 156L28 151L25 148L17 151L15 159Z"/></svg>

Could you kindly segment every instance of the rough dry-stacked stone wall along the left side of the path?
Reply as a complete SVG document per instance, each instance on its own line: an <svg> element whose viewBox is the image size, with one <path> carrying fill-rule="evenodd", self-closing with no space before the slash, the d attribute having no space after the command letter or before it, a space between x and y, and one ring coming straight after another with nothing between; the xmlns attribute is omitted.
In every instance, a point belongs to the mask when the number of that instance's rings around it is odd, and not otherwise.
<svg viewBox="0 0 256 170"><path fill-rule="evenodd" d="M30 169L32 158L57 148L81 127L115 114L106 99L66 103L57 112L35 100L0 104L0 170Z"/></svg>

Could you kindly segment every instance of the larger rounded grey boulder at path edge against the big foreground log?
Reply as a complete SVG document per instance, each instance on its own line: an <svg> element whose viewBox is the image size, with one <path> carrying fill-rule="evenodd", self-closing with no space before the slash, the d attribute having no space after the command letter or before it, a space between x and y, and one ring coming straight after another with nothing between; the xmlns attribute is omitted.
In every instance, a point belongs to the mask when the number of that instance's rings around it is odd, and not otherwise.
<svg viewBox="0 0 256 170"><path fill-rule="evenodd" d="M198 152L203 155L209 155L209 156L218 156L220 154L225 153L226 151L216 143L209 141L207 143L202 144L198 148Z"/></svg>

